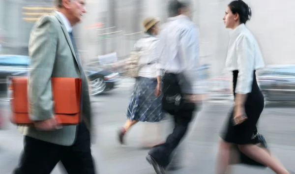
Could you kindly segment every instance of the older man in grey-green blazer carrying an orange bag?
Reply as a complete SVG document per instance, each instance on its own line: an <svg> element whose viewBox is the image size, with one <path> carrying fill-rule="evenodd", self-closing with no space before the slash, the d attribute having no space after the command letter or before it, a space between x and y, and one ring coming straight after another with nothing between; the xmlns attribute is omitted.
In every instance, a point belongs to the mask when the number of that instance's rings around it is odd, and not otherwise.
<svg viewBox="0 0 295 174"><path fill-rule="evenodd" d="M68 174L95 174L90 149L91 108L88 79L77 53L72 26L86 9L85 0L56 0L54 15L43 16L29 39L30 119L24 152L15 174L50 174L59 161ZM51 77L82 78L82 118L77 126L58 125L54 118Z"/></svg>

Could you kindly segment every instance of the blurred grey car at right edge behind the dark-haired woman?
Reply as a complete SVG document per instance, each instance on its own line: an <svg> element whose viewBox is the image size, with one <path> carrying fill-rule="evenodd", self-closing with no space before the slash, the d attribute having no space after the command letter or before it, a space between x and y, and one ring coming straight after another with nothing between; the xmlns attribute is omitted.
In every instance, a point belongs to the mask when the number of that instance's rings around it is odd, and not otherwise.
<svg viewBox="0 0 295 174"><path fill-rule="evenodd" d="M266 101L295 101L295 65L266 67L257 81Z"/></svg>

